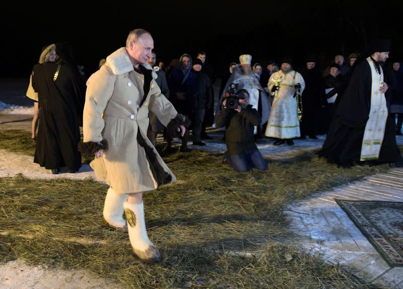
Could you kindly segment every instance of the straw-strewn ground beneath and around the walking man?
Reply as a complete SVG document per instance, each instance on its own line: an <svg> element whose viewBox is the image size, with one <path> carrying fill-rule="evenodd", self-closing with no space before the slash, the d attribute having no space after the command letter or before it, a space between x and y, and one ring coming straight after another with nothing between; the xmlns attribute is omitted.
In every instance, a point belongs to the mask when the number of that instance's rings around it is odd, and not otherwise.
<svg viewBox="0 0 403 289"><path fill-rule="evenodd" d="M0 149L33 153L29 133L0 134ZM164 160L178 181L144 196L161 263L137 261L127 234L102 225L105 184L22 176L0 178L0 260L87 269L128 288L373 288L299 251L283 209L387 166L340 169L305 153L266 159L265 172L235 173L219 154Z"/></svg>

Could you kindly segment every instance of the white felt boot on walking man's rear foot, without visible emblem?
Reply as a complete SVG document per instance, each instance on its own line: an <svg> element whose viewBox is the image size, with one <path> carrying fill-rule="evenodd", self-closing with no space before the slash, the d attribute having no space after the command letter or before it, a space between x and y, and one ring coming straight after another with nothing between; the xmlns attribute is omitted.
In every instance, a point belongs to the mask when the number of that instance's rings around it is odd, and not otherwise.
<svg viewBox="0 0 403 289"><path fill-rule="evenodd" d="M127 232L127 224L123 219L123 202L126 199L127 194L118 194L109 187L103 211L105 225Z"/></svg>

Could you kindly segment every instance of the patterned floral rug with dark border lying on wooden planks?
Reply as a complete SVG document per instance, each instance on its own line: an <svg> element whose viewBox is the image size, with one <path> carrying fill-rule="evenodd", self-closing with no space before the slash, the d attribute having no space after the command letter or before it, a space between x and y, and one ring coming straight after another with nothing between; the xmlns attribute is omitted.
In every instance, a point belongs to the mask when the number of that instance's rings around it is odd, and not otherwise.
<svg viewBox="0 0 403 289"><path fill-rule="evenodd" d="M403 266L403 202L335 201L390 266Z"/></svg>

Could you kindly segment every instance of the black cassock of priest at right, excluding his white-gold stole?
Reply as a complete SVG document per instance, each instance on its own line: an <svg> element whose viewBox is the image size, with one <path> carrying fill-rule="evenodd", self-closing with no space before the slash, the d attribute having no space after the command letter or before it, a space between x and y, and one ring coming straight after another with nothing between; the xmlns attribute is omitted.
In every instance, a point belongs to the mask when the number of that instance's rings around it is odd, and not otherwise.
<svg viewBox="0 0 403 289"><path fill-rule="evenodd" d="M379 71L379 64L374 60ZM386 82L386 80L385 80ZM359 63L346 90L336 100L333 121L322 149L317 153L332 163L343 166L360 163L362 140L371 106L372 75L367 60ZM378 160L369 162L395 163L402 161L396 144L394 120L388 116Z"/></svg>

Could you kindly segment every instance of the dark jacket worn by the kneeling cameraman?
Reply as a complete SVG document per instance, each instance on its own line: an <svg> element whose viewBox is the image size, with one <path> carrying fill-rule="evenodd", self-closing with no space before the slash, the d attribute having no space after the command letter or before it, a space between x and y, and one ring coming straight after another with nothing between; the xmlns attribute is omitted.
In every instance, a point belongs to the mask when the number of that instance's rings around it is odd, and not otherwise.
<svg viewBox="0 0 403 289"><path fill-rule="evenodd" d="M226 128L225 142L228 155L247 155L257 150L253 138L253 126L259 125L260 121L260 114L250 104L240 112L224 107L221 109L216 125Z"/></svg>

